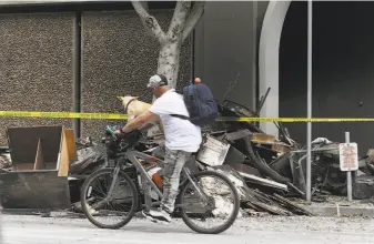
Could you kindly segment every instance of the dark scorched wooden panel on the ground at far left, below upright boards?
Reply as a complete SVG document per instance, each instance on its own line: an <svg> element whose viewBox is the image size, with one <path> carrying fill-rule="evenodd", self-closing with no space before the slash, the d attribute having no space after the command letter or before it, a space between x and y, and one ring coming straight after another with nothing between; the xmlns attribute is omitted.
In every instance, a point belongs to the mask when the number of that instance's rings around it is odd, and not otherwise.
<svg viewBox="0 0 374 244"><path fill-rule="evenodd" d="M68 177L58 177L57 173L57 171L1 173L0 200L2 207L69 209Z"/></svg>

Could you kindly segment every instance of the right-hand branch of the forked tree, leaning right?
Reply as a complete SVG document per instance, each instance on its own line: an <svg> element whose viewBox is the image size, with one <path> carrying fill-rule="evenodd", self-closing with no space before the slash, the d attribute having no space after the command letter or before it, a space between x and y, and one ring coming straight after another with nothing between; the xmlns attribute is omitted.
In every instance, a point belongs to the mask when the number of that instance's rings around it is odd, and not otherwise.
<svg viewBox="0 0 374 244"><path fill-rule="evenodd" d="M169 26L168 38L170 41L176 41L183 38L185 19L191 9L191 1L178 1L173 18Z"/></svg>

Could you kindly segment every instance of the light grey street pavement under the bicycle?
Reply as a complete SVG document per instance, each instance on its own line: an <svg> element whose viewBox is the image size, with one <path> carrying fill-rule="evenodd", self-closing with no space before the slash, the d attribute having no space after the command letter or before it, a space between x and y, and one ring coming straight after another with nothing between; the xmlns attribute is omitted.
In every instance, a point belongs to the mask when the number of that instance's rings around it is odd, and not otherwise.
<svg viewBox="0 0 374 244"><path fill-rule="evenodd" d="M180 220L160 225L134 218L102 230L84 218L2 215L1 244L252 244L374 243L373 218L246 217L219 235L192 232Z"/></svg>

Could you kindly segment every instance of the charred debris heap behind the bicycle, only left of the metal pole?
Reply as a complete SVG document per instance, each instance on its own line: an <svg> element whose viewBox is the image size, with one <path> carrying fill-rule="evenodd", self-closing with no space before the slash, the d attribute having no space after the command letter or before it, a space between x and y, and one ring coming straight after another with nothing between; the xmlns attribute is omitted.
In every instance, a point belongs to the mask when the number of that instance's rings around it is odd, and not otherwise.
<svg viewBox="0 0 374 244"><path fill-rule="evenodd" d="M249 109L225 100L219 105L222 116L254 116ZM312 215L307 207L291 201L290 197L303 199L305 185L300 182L296 156L292 151L300 146L280 125L282 140L263 133L255 124L246 122L216 122L203 129L203 145L191 159L188 166L191 171L215 170L228 175L236 185L242 212L256 214L269 212L276 215ZM90 140L77 143L78 161L70 165L71 179L82 179L105 165L105 149ZM163 135L153 135L141 141L137 150L151 152L163 159ZM293 156L293 157L292 157ZM293 162L295 161L296 162ZM162 175L162 172L159 174ZM295 180L294 180L295 179ZM80 211L80 203L73 204Z"/></svg>

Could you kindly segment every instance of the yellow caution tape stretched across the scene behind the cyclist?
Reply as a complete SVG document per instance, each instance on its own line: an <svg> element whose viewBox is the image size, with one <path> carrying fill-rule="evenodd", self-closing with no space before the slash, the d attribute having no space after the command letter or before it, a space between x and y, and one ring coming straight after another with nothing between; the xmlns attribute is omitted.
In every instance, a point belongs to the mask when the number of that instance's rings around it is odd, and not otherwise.
<svg viewBox="0 0 374 244"><path fill-rule="evenodd" d="M52 119L89 119L89 120L125 120L128 114L120 113L75 113L75 112L37 112L37 111L0 111L0 116L52 118ZM374 122L374 118L219 118L216 121L232 122Z"/></svg>

